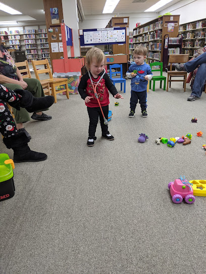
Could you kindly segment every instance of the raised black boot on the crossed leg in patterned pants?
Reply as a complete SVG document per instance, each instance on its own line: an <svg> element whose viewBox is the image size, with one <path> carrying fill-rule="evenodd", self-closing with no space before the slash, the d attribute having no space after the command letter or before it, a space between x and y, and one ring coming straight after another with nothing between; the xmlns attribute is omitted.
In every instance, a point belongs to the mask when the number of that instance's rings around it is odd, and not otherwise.
<svg viewBox="0 0 206 274"><path fill-rule="evenodd" d="M53 96L34 97L27 90L15 90L15 92L22 96L22 98L20 98L20 107L25 108L28 112L46 109L52 106L55 102Z"/></svg>

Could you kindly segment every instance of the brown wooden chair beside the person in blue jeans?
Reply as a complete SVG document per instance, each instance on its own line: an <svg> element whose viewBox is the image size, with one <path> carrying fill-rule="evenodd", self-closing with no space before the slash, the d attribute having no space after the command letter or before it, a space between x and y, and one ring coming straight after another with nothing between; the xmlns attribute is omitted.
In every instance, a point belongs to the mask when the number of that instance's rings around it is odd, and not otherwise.
<svg viewBox="0 0 206 274"><path fill-rule="evenodd" d="M186 63L188 60L189 60L189 54L170 54L169 56L170 71L168 71L168 77L167 77L167 91L168 91L169 82L170 82L170 88L171 88L171 82L183 82L183 88L185 92L186 82L187 82L187 72L172 71L172 63ZM184 79L172 80L172 77L183 77Z"/></svg>

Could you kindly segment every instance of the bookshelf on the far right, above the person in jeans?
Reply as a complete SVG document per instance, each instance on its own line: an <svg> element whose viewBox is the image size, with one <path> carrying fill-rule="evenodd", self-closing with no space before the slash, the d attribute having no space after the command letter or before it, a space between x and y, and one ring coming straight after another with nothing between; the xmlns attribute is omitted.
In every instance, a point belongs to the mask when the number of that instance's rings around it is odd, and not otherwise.
<svg viewBox="0 0 206 274"><path fill-rule="evenodd" d="M206 19L192 21L179 26L183 36L182 51L192 58L199 48L205 46Z"/></svg>

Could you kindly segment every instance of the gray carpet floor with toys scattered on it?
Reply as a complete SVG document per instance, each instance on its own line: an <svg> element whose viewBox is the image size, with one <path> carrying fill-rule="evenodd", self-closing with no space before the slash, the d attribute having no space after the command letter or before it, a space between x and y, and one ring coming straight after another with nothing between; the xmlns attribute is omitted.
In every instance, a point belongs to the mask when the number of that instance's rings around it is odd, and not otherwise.
<svg viewBox="0 0 206 274"><path fill-rule="evenodd" d="M180 175L206 180L206 94L188 102L189 84L186 92L182 83L168 92L156 85L147 118L139 104L128 117L130 80L119 106L110 96L115 140L102 139L98 124L94 147L86 146L89 119L79 95L58 95L46 112L52 120L25 123L30 148L48 158L17 163L16 193L0 202L1 274L206 273L206 197L175 204L168 189ZM190 145L155 143L189 132ZM3 143L0 151L13 157Z"/></svg>

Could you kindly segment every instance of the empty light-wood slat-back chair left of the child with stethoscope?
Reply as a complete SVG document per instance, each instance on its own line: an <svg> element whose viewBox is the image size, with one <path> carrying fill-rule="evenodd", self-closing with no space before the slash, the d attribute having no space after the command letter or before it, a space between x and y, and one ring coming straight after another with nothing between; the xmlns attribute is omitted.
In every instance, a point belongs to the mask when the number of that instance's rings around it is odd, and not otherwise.
<svg viewBox="0 0 206 274"><path fill-rule="evenodd" d="M55 97L55 103L57 103L57 93L66 92L66 96L69 99L69 89L68 89L67 78L53 78L52 72L49 67L48 59L38 60L38 61L31 60L31 62L33 65L36 79L38 79L41 83L48 82L49 86L52 88L52 95ZM45 65L46 68L44 68L42 70L37 70L36 66L42 65L42 64ZM42 74L42 73L48 73L49 79L40 80L39 74ZM65 85L65 89L64 90L56 90L56 87L61 86L61 85Z"/></svg>

